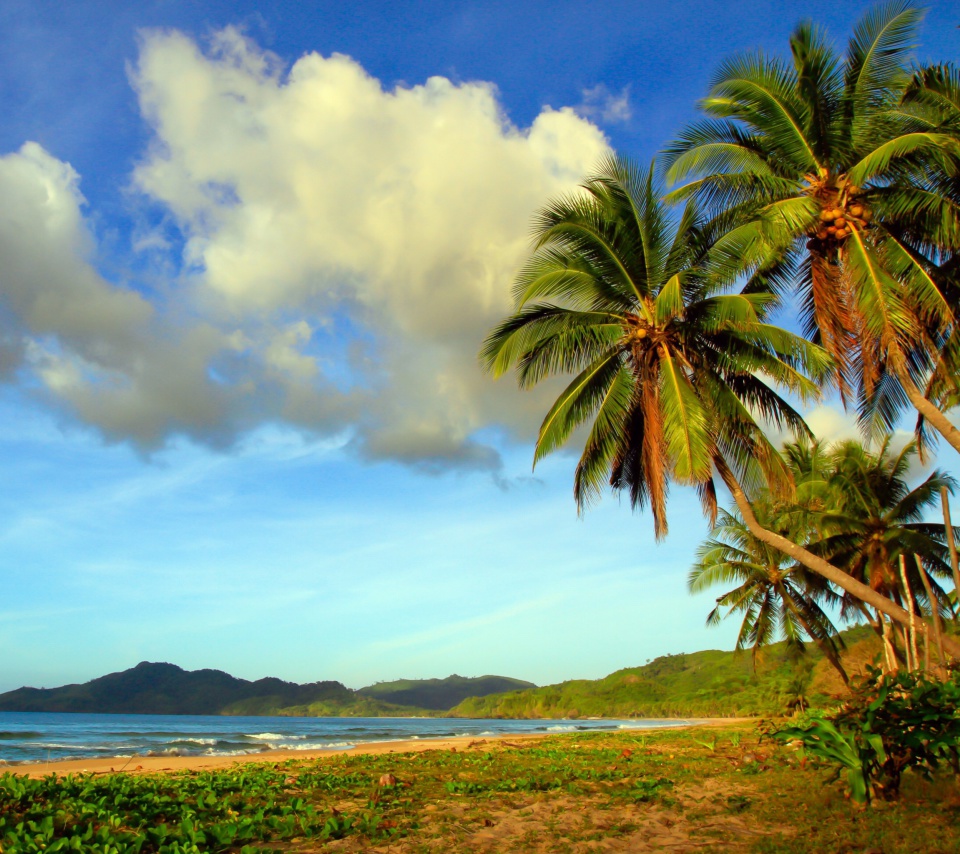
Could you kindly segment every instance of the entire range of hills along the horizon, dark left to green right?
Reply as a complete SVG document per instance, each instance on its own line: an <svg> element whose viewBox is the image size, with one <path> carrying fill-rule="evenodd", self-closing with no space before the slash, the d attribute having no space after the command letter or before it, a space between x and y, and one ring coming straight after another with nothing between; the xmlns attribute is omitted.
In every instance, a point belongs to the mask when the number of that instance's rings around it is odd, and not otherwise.
<svg viewBox="0 0 960 854"><path fill-rule="evenodd" d="M874 660L879 641L866 626L843 633L851 676ZM281 679L236 679L220 670L187 671L142 662L82 685L19 688L0 694L0 711L323 717L446 716L470 718L721 717L780 714L845 693L811 646L797 657L785 644L748 652L706 650L666 655L603 679L537 688L502 676L401 679L352 691L339 682L297 685ZM449 711L447 711L449 710Z"/></svg>

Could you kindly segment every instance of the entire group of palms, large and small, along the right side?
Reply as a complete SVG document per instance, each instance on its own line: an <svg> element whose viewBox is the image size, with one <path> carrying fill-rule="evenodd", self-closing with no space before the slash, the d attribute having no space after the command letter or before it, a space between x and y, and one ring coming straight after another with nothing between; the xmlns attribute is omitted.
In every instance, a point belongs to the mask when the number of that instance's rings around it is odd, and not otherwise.
<svg viewBox="0 0 960 854"><path fill-rule="evenodd" d="M654 162L611 156L539 211L480 353L521 388L572 376L534 464L582 431L581 511L625 492L659 539L669 487L694 487L714 530L691 588L736 585L710 620L740 613L740 647L814 642L845 680L837 609L875 626L889 669L960 659L955 482L908 485L938 439L960 452L960 71L911 63L921 18L888 3L842 54L804 23L787 57L724 62ZM862 441L812 434L798 407L826 393ZM924 522L938 501L945 524Z"/></svg>

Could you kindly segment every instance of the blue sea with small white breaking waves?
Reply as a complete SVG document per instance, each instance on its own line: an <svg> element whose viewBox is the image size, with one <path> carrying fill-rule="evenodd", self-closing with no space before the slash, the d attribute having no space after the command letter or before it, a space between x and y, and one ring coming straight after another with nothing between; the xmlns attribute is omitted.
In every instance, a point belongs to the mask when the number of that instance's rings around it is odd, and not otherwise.
<svg viewBox="0 0 960 854"><path fill-rule="evenodd" d="M678 720L274 718L0 712L0 764L131 756L242 756L371 742L678 726Z"/></svg>

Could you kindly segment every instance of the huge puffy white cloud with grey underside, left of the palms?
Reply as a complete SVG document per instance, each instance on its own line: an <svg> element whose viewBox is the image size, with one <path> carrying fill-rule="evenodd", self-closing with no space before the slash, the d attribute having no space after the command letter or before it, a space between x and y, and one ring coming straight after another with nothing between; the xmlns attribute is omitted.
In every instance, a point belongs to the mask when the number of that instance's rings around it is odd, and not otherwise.
<svg viewBox="0 0 960 854"><path fill-rule="evenodd" d="M526 129L487 83L385 89L349 57L291 68L238 31L143 35L152 140L132 182L181 242L169 287L106 281L79 176L34 144L0 158L0 372L106 436L227 445L281 423L429 470L491 468L476 434L543 401L477 365L509 310L531 213L607 151L571 109ZM177 250L179 251L179 250Z"/></svg>

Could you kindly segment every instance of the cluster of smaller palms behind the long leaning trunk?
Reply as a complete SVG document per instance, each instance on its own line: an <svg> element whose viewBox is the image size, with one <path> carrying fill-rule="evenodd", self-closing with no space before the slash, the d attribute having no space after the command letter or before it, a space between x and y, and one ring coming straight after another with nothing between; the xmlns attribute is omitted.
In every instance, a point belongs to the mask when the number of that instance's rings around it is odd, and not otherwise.
<svg viewBox="0 0 960 854"><path fill-rule="evenodd" d="M907 472L915 453L913 443L892 453L888 441L876 451L856 441L833 447L806 442L789 445L785 455L797 486L795 497L777 502L772 496L761 496L754 511L765 527L803 543L897 603L912 601L912 611L935 612L939 623L950 613L939 584L951 575L947 536L942 524L922 519L937 503L940 491L952 489L954 481L935 470L910 489ZM727 614L742 612L738 648L751 645L756 650L782 634L802 651L804 639L809 638L845 679L836 657L837 630L820 608L826 601L840 604L841 616L866 615L875 622L886 638L887 665L893 666L896 655L909 663L909 650L896 649L894 633L882 612L871 616L859 599L838 596L819 576L755 537L738 516L725 513L698 552L690 586L699 591L730 581L739 581L740 586L718 597L707 622L719 621L724 608ZM927 638L925 643L929 650L936 640ZM929 655L937 662L943 657L939 649Z"/></svg>

